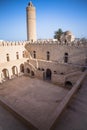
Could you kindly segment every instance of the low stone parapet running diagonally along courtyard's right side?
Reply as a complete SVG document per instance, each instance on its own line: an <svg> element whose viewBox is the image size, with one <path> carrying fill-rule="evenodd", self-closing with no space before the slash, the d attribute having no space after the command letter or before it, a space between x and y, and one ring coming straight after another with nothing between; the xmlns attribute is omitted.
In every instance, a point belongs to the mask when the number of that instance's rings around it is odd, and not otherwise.
<svg viewBox="0 0 87 130"><path fill-rule="evenodd" d="M46 128L46 130L53 130L61 113L64 111L64 109L67 107L70 99L73 97L73 95L75 94L75 92L78 90L78 88L80 87L80 84L82 83L82 81L84 80L85 76L87 75L87 71L85 71L81 77L78 79L78 81L76 82L76 84L72 87L72 89L68 92L68 94L64 97L63 101L58 105L57 109L55 110L55 112L52 115L52 120L49 123L49 128Z"/></svg>

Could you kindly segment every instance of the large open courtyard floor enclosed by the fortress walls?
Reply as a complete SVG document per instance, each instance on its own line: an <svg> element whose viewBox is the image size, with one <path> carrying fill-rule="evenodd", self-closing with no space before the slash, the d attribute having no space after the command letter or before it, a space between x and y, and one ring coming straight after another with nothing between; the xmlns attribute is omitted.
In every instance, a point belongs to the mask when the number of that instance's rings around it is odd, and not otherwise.
<svg viewBox="0 0 87 130"><path fill-rule="evenodd" d="M0 85L0 97L40 130L67 93L62 87L27 76Z"/></svg>

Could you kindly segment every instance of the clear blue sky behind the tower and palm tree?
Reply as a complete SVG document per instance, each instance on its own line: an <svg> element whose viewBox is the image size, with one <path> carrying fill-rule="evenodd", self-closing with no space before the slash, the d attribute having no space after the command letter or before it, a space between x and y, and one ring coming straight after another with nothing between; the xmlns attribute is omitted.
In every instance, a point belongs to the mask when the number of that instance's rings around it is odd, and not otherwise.
<svg viewBox="0 0 87 130"><path fill-rule="evenodd" d="M0 0L0 40L27 39L29 0ZM51 39L61 28L87 38L87 0L32 0L36 7L37 39Z"/></svg>

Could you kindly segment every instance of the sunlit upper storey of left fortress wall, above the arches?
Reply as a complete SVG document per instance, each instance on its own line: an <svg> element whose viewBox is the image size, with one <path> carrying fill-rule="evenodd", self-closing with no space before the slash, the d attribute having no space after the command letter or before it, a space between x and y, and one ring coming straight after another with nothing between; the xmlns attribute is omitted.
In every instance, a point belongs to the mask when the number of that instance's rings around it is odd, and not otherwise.
<svg viewBox="0 0 87 130"><path fill-rule="evenodd" d="M26 51L24 44L25 42L0 42L0 63L7 61L7 54L9 55L10 61L17 59L17 53L19 58L22 58L23 53Z"/></svg>

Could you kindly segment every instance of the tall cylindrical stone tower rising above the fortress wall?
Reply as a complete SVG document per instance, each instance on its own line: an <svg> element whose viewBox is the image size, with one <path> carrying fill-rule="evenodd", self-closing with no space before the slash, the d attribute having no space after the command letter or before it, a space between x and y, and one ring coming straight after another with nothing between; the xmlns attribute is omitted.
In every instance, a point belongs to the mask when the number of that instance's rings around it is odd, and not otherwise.
<svg viewBox="0 0 87 130"><path fill-rule="evenodd" d="M27 13L27 40L36 41L36 10L32 2L26 8Z"/></svg>

